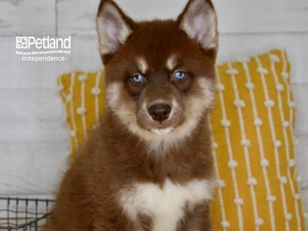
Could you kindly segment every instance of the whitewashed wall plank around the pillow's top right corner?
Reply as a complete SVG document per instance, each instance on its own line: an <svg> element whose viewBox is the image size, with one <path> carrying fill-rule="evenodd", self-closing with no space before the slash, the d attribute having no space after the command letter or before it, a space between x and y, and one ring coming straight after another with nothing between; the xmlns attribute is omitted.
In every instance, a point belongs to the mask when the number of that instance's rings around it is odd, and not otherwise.
<svg viewBox="0 0 308 231"><path fill-rule="evenodd" d="M306 38L307 35L299 33L222 34L219 39L218 60L225 62L261 54L270 49L285 49L292 65L292 83L308 83L308 69L305 63L308 49L305 51L304 48L308 45Z"/></svg>

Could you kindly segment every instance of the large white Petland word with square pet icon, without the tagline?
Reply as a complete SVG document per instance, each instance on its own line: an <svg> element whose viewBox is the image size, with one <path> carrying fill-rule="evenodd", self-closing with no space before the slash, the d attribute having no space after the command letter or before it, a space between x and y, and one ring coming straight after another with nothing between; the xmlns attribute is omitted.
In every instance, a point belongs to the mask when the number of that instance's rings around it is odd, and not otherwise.
<svg viewBox="0 0 308 231"><path fill-rule="evenodd" d="M71 37L53 38L43 37L35 38L33 36L16 36L16 49L30 49L35 46L36 49L70 49Z"/></svg>

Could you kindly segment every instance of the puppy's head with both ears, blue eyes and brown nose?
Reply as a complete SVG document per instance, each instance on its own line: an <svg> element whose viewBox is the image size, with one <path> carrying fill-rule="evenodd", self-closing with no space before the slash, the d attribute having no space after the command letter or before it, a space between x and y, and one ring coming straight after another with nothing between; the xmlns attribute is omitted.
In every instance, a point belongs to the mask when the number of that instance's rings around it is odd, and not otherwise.
<svg viewBox="0 0 308 231"><path fill-rule="evenodd" d="M102 0L97 28L113 114L151 148L189 136L214 98L218 35L210 0L190 0L176 21L139 23Z"/></svg>

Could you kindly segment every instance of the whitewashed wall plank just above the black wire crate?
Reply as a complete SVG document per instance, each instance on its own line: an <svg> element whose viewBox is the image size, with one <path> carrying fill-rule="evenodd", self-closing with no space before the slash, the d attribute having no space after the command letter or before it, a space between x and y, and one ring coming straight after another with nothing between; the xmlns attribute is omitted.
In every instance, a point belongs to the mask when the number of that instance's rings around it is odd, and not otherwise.
<svg viewBox="0 0 308 231"><path fill-rule="evenodd" d="M0 142L0 185L4 194L57 190L66 169L67 141Z"/></svg>

